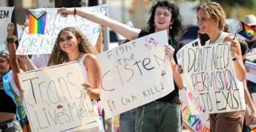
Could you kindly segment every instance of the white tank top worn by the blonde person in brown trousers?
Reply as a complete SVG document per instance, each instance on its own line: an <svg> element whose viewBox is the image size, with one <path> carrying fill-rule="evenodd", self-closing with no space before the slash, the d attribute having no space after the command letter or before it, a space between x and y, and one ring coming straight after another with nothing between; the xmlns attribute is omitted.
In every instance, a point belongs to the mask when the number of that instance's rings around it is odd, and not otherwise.
<svg viewBox="0 0 256 132"><path fill-rule="evenodd" d="M217 40L215 40L213 43L209 43L210 40L208 40L207 42L205 42L205 46L209 46L209 44L219 44L219 43L223 43L225 38L229 35L232 35L233 34L230 34L228 32L221 32L221 34L219 35L219 37L217 38ZM240 98L241 100L244 100L245 99L245 96L244 96L244 91L243 91L243 82L239 81L237 79L237 86L239 87L239 93L240 93ZM241 102L241 106L245 109L245 102Z"/></svg>

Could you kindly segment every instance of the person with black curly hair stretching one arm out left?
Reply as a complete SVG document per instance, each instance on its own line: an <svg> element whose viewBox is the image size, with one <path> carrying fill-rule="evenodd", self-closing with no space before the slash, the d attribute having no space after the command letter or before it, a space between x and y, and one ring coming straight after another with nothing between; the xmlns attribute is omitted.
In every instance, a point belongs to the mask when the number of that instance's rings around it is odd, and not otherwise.
<svg viewBox="0 0 256 132"><path fill-rule="evenodd" d="M135 110L136 131L182 131L182 114L180 110L179 89L184 88L182 77L176 69L176 53L184 44L175 40L175 37L184 32L180 9L169 1L155 1L150 9L150 18L146 30L131 28L112 20L107 16L96 15L88 11L76 8L61 8L58 10L62 16L79 15L83 18L108 26L128 40L135 40L142 36L167 30L168 45L165 46L165 53L170 59L170 67L173 68L175 88L174 90Z"/></svg>

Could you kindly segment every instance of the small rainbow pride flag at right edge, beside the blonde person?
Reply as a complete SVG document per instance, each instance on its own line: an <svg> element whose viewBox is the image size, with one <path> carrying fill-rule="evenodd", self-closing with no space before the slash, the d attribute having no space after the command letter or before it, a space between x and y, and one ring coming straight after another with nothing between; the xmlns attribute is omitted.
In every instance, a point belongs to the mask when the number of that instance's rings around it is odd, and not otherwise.
<svg viewBox="0 0 256 132"><path fill-rule="evenodd" d="M256 30L245 22L240 21L237 27L237 33L247 38L248 40L251 40L253 39L253 36L255 36Z"/></svg>

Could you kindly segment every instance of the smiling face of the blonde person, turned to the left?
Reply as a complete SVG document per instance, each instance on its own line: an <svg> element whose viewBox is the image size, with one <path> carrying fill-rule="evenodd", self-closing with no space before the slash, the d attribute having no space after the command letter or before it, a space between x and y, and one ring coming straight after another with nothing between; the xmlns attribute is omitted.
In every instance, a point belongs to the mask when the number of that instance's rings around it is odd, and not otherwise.
<svg viewBox="0 0 256 132"><path fill-rule="evenodd" d="M211 18L207 18L203 9L197 11L197 26L199 27L199 32L201 34L209 34L214 28L216 28L217 22Z"/></svg>

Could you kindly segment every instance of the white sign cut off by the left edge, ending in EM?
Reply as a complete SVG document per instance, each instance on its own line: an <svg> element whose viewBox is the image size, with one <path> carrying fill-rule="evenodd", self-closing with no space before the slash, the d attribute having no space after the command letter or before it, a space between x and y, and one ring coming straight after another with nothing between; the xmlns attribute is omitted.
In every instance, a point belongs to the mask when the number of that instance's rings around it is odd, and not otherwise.
<svg viewBox="0 0 256 132"><path fill-rule="evenodd" d="M7 38L7 25L11 22L14 7L1 7L0 9L0 49L5 49Z"/></svg>

